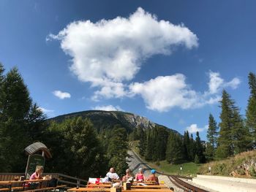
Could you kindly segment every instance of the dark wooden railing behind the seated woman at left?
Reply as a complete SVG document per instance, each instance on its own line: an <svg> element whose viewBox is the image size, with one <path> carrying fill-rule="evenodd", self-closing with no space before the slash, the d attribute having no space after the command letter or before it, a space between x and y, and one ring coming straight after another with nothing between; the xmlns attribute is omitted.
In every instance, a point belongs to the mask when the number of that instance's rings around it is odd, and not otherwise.
<svg viewBox="0 0 256 192"><path fill-rule="evenodd" d="M78 177L71 177L67 174L61 173L44 173L42 176L51 175L52 178L58 179L58 183L64 183L67 185L68 188L70 187L86 187L87 180L82 180ZM10 181L15 180L20 176L25 176L24 173L0 173L0 180L1 181Z"/></svg>

